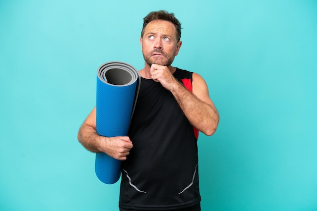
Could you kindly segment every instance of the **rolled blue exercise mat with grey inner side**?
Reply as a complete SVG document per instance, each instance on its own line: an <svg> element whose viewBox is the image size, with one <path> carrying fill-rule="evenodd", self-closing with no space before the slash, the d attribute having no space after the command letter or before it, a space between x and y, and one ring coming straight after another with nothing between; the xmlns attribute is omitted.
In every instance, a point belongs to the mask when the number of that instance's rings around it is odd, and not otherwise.
<svg viewBox="0 0 317 211"><path fill-rule="evenodd" d="M97 133L106 137L127 136L139 92L141 77L131 65L108 62L97 72ZM96 153L98 179L113 184L120 179L121 161L105 153Z"/></svg>

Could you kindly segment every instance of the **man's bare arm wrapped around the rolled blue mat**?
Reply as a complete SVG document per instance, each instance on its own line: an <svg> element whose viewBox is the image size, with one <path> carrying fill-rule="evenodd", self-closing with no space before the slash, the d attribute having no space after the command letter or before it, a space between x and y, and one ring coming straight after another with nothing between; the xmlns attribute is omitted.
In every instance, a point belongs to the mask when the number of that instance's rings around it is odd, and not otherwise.
<svg viewBox="0 0 317 211"><path fill-rule="evenodd" d="M96 131L96 107L89 114L77 135L78 141L89 151L104 152L114 159L124 161L133 147L128 136L105 137Z"/></svg>

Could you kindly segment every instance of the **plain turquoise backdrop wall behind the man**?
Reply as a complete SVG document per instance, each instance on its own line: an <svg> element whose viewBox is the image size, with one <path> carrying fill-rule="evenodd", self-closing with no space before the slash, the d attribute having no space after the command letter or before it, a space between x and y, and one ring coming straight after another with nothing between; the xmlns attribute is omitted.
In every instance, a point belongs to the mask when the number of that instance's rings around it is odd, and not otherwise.
<svg viewBox="0 0 317 211"><path fill-rule="evenodd" d="M144 65L142 18L174 12L174 66L221 119L200 134L202 209L317 210L317 2L0 1L0 210L118 210L77 131L109 61Z"/></svg>

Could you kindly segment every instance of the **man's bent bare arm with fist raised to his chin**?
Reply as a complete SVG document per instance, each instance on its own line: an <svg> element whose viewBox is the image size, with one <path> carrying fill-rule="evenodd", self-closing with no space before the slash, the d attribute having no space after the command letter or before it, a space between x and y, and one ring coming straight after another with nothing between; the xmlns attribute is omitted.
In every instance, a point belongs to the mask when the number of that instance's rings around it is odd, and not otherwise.
<svg viewBox="0 0 317 211"><path fill-rule="evenodd" d="M209 97L207 84L199 74L192 75L191 93L177 81L166 66L154 64L150 72L153 80L159 81L172 92L188 121L196 129L209 136L216 132L219 115Z"/></svg>

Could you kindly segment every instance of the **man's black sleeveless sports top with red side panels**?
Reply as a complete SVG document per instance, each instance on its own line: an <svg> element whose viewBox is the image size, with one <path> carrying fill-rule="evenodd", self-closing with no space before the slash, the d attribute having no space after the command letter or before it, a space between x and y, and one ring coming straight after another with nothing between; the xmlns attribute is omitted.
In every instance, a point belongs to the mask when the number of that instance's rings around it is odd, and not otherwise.
<svg viewBox="0 0 317 211"><path fill-rule="evenodd" d="M191 91L192 73L173 74ZM136 210L169 210L199 203L197 137L172 93L141 79L129 130L133 148L122 164L119 205Z"/></svg>

